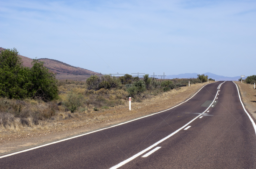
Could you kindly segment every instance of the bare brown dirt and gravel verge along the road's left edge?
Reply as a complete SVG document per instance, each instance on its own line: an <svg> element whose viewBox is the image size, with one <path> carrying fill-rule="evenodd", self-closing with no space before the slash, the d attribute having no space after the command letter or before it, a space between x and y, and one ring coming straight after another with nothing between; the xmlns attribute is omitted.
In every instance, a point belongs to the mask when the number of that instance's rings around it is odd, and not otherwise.
<svg viewBox="0 0 256 169"><path fill-rule="evenodd" d="M5 154L9 151L99 129L171 108L194 95L205 84L207 82L173 89L163 95L146 96L146 99L142 102L132 102L131 111L129 110L129 101L127 100L124 105L95 111L95 117L90 120L74 116L74 118L61 121L49 121L47 125L42 125L41 128L27 127L19 131L2 130L0 131L0 153Z"/></svg>

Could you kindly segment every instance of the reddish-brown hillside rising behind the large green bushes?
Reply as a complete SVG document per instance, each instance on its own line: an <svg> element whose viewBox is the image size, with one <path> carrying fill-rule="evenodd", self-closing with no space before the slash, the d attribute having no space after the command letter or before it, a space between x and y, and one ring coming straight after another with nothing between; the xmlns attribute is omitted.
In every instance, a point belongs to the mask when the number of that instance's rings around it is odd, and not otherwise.
<svg viewBox="0 0 256 169"><path fill-rule="evenodd" d="M5 50L4 48L0 47L0 51ZM23 65L26 67L32 67L31 62L33 59L30 59L28 57L19 55L20 58L22 59ZM96 72L93 72L91 70L83 69L80 67L74 67L71 65L68 65L67 63L63 63L58 60L54 59L38 59L39 61L44 61L44 66L47 67L48 69L52 70L52 72L57 73L57 74L80 74L80 75L91 75L95 74Z"/></svg>

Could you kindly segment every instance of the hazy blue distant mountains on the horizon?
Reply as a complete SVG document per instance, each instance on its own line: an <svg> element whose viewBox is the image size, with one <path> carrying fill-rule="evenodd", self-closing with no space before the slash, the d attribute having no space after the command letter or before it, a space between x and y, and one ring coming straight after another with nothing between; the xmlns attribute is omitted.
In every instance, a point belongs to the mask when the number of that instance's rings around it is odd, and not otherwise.
<svg viewBox="0 0 256 169"><path fill-rule="evenodd" d="M208 75L208 79L212 78L215 79L215 81L236 81L240 79L240 76L235 76L235 77L226 77L226 76L220 76L217 74L212 74L212 73L204 73L204 75ZM165 78L166 79L175 79L175 78L197 78L197 73L185 73L185 74L178 74L178 75L167 75ZM246 78L247 76L245 76Z"/></svg>

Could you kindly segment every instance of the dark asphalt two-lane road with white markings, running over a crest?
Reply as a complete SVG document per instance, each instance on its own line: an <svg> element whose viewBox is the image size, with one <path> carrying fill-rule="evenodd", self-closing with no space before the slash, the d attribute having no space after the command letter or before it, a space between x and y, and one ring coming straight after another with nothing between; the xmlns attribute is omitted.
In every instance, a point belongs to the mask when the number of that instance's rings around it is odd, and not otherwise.
<svg viewBox="0 0 256 169"><path fill-rule="evenodd" d="M0 168L256 168L252 122L222 82L164 112L0 157Z"/></svg>

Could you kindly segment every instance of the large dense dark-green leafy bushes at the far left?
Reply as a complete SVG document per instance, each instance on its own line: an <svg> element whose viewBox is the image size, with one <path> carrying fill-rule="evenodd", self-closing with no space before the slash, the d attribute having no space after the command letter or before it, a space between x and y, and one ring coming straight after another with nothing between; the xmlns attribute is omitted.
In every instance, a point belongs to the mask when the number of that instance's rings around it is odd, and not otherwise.
<svg viewBox="0 0 256 169"><path fill-rule="evenodd" d="M17 49L0 53L0 96L14 99L36 98L51 101L58 98L55 74L43 62L33 60L33 67L23 67Z"/></svg>

